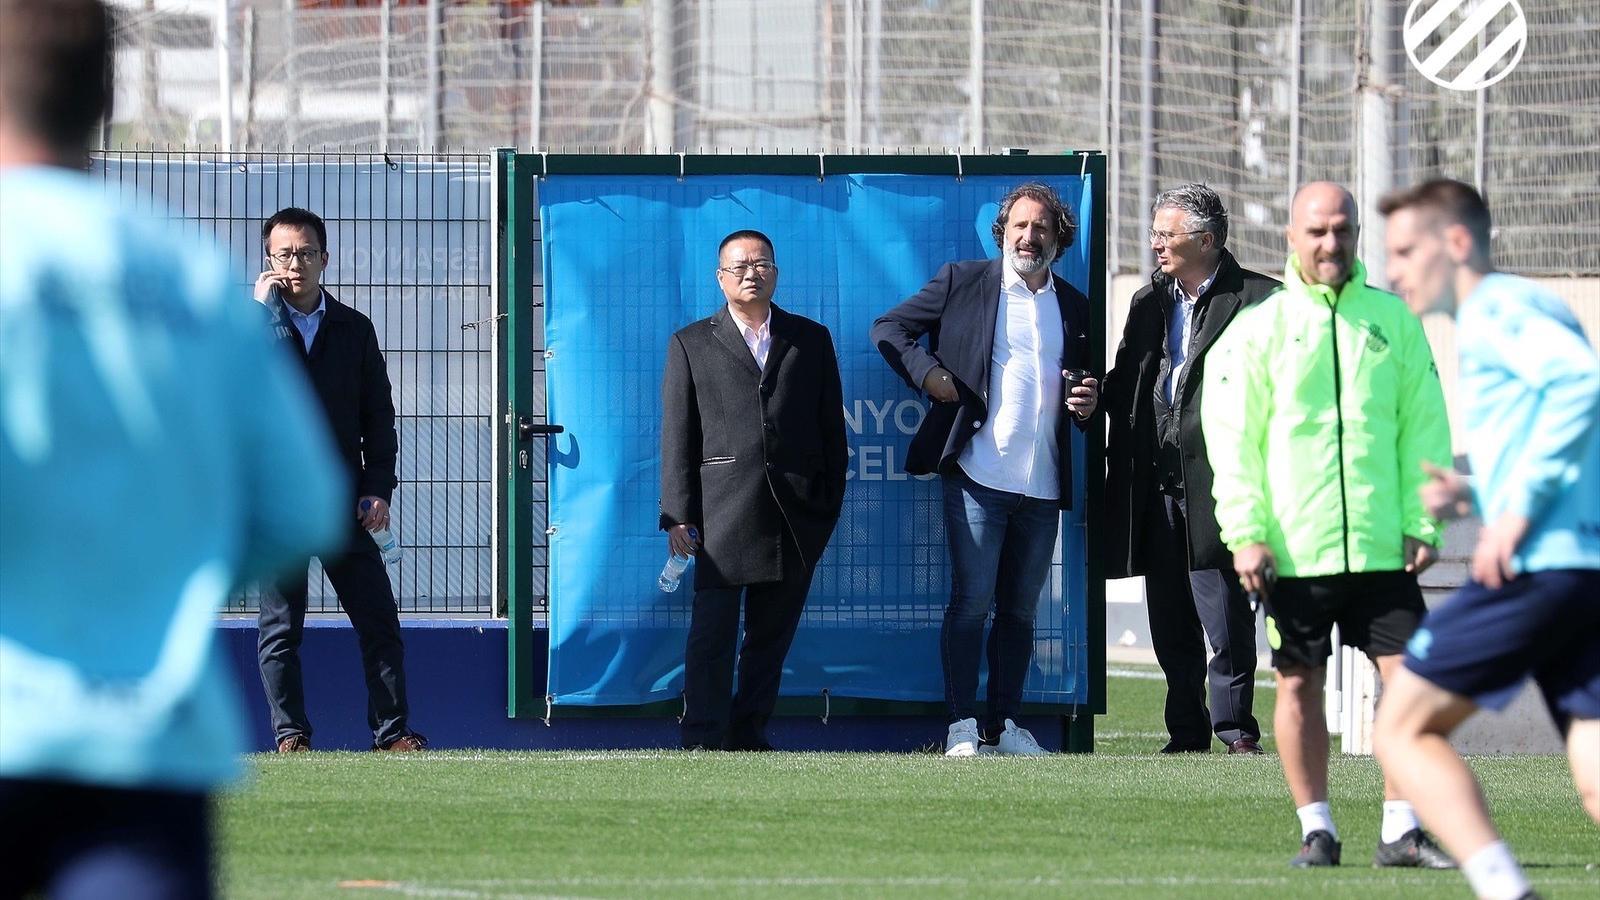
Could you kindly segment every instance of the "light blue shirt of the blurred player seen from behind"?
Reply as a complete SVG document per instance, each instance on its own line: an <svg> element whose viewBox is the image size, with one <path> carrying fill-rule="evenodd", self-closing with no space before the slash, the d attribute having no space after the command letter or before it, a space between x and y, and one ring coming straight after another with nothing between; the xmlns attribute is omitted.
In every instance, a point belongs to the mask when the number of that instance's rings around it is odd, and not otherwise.
<svg viewBox="0 0 1600 900"><path fill-rule="evenodd" d="M211 788L218 607L344 536L326 426L214 247L59 168L0 171L0 777Z"/></svg>

